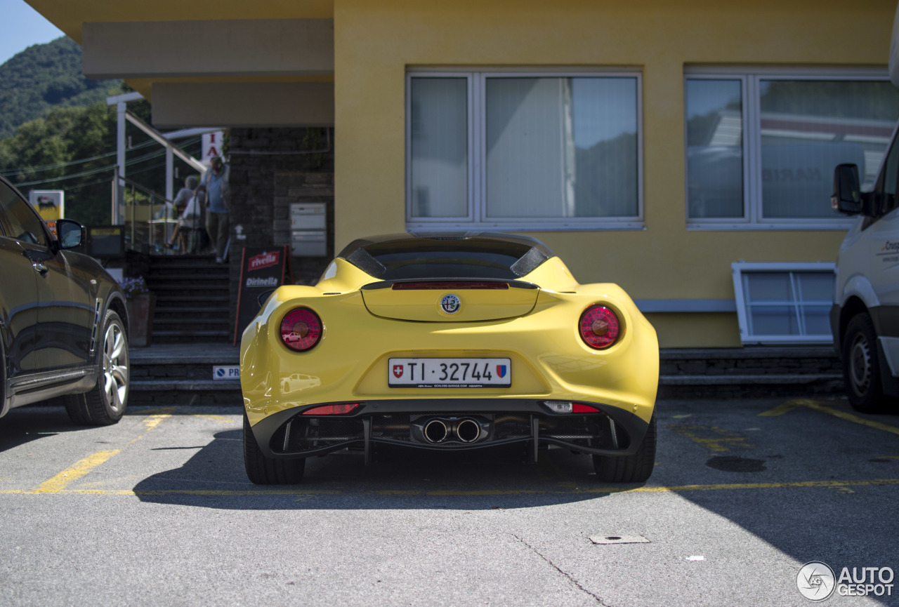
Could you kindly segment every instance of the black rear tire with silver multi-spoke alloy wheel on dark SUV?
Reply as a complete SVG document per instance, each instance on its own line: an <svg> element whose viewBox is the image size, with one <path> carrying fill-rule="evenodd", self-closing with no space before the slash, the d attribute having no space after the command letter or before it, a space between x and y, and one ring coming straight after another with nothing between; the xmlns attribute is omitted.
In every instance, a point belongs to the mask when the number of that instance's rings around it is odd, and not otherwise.
<svg viewBox="0 0 899 607"><path fill-rule="evenodd" d="M68 417L81 426L117 424L128 407L128 336L125 325L116 312L106 312L101 340L96 385L83 394L67 394L63 397Z"/></svg>

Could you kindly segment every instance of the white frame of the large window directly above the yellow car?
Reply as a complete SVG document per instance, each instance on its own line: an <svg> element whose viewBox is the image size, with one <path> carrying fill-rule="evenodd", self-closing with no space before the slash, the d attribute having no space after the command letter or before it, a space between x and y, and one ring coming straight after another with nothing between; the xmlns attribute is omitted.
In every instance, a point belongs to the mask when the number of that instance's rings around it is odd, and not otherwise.
<svg viewBox="0 0 899 607"><path fill-rule="evenodd" d="M487 78L590 78L629 77L636 80L636 216L624 217L488 217L486 209L486 97ZM465 217L416 217L412 215L412 79L467 79L468 214ZM409 232L499 230L503 232L561 232L644 230L643 184L643 74L633 69L546 68L409 68L405 76L405 227Z"/></svg>

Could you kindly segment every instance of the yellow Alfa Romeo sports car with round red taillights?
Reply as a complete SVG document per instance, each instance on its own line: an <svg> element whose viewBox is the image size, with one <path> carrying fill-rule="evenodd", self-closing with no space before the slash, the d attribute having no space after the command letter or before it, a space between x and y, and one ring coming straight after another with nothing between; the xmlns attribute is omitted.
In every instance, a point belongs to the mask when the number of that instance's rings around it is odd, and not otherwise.
<svg viewBox="0 0 899 607"><path fill-rule="evenodd" d="M244 331L244 458L292 484L307 457L374 444L520 443L592 455L642 482L655 457L659 348L617 285L580 285L532 238L357 240L316 286L281 286Z"/></svg>

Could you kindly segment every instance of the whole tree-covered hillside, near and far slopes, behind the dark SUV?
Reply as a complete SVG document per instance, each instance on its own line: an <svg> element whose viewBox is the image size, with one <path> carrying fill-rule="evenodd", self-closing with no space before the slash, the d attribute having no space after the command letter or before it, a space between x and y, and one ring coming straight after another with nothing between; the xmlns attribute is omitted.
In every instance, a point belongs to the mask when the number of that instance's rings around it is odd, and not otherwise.
<svg viewBox="0 0 899 607"><path fill-rule="evenodd" d="M120 80L81 75L81 48L67 38L36 45L0 66L0 175L26 196L31 189L61 189L66 216L86 225L109 224L116 163L116 112L105 98L130 92ZM128 110L150 122L150 104ZM128 126L127 176L165 192L165 149ZM200 154L200 137L178 142ZM178 179L191 172L180 160Z"/></svg>

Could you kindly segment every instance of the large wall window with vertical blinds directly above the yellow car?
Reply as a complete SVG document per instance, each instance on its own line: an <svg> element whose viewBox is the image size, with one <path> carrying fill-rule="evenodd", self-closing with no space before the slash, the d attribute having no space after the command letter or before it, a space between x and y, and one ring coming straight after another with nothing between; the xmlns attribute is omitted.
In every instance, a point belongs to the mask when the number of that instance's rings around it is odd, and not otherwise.
<svg viewBox="0 0 899 607"><path fill-rule="evenodd" d="M410 72L410 230L641 228L640 77Z"/></svg>

